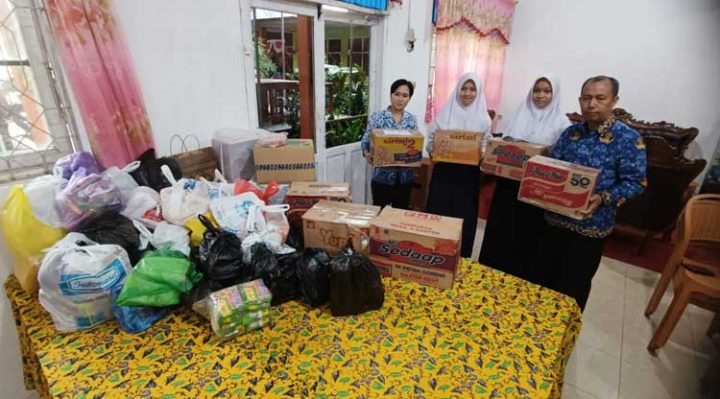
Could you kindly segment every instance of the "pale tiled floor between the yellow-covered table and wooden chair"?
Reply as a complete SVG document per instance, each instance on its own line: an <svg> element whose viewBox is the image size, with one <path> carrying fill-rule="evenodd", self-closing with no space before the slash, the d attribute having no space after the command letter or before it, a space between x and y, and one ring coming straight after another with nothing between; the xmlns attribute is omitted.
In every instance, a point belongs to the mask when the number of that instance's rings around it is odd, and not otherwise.
<svg viewBox="0 0 720 399"><path fill-rule="evenodd" d="M484 223L479 223L475 256L483 228ZM565 370L564 399L701 397L699 380L709 367L710 356L717 356L705 335L712 314L689 306L670 341L658 350L657 357L651 356L645 347L672 300L669 290L652 317L643 315L659 277L633 265L602 259L583 313L582 332Z"/></svg>

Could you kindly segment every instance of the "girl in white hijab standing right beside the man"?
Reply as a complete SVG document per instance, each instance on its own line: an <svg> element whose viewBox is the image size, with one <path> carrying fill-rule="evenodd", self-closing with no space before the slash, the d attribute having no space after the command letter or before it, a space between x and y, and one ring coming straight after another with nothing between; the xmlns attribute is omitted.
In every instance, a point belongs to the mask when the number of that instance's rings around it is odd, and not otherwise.
<svg viewBox="0 0 720 399"><path fill-rule="evenodd" d="M570 121L560 111L560 82L550 75L533 81L525 101L505 127L506 140L552 146ZM545 226L542 209L517 200L520 182L497 178L480 263L539 283L532 261Z"/></svg>

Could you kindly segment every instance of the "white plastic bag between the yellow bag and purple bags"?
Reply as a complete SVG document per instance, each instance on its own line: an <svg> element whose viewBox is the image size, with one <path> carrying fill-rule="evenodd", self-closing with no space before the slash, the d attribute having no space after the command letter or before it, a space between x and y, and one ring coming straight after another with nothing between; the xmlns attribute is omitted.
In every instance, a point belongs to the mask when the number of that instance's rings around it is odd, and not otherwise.
<svg viewBox="0 0 720 399"><path fill-rule="evenodd" d="M67 180L60 173L44 175L31 180L23 188L35 217L49 226L63 227L63 221L55 208L55 194L62 190Z"/></svg>

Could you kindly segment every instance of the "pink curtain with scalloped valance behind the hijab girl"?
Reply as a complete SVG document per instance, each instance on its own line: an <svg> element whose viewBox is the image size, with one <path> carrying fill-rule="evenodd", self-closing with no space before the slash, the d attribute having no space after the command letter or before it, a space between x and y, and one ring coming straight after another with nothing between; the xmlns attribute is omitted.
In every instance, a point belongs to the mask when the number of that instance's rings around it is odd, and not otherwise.
<svg viewBox="0 0 720 399"><path fill-rule="evenodd" d="M473 71L483 80L488 107L502 96L505 49L509 43L514 0L439 0L433 95L426 121L452 93L460 76Z"/></svg>

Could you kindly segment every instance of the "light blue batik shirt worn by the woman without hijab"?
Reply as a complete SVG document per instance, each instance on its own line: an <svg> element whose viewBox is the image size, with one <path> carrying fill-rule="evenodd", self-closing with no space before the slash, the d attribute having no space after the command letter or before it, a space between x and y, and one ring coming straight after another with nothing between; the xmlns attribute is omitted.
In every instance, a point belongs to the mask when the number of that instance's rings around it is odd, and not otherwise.
<svg viewBox="0 0 720 399"><path fill-rule="evenodd" d="M395 122L389 109L373 112L368 118L368 125L363 134L361 147L363 151L370 151L370 131L372 129L416 130L417 119L415 115L405 111L399 123ZM406 185L412 182L412 168L389 166L373 168L373 181L394 186Z"/></svg>

